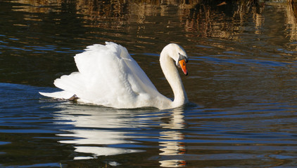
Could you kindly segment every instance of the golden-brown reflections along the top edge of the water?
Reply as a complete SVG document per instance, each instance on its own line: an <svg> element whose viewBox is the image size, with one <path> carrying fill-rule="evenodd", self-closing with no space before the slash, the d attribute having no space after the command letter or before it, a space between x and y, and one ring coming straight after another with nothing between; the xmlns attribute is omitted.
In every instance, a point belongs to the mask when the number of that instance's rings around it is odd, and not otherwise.
<svg viewBox="0 0 297 168"><path fill-rule="evenodd" d="M29 13L61 12L61 6L67 3L61 0L15 0L15 2L22 3L24 6L15 6L14 10ZM191 32L186 34L186 36L233 40L240 39L240 34L244 32L246 27L244 23L250 18L254 22L255 34L261 34L261 27L263 27L265 22L262 13L266 3L273 6L281 4L281 6L286 6L286 22L289 25L289 29L291 29L288 36L290 36L291 41L296 40L297 36L296 1L293 0L289 0L288 3L259 2L257 0L225 1L225 3L206 0L78 0L71 3L75 14L81 15L80 17L84 20L85 27L130 29L134 31L132 27L135 26L147 29L150 27L145 24L163 22L167 24L167 27L182 25L184 31ZM53 6L56 7L53 8ZM178 17L175 18L172 15L177 15ZM160 18L156 19L156 16ZM32 19L32 17L25 19ZM137 23L137 25L132 23ZM196 35L193 32L196 32ZM144 37L147 38L148 36Z"/></svg>

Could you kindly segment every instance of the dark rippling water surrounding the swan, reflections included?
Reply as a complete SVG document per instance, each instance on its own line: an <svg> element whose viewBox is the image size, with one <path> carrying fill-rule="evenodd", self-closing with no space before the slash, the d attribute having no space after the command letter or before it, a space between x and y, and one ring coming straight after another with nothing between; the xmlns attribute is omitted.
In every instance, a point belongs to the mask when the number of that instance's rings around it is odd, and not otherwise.
<svg viewBox="0 0 297 168"><path fill-rule="evenodd" d="M1 1L0 167L296 167L296 6L198 2ZM167 97L158 55L182 45L190 103L120 110L38 94L104 41Z"/></svg>

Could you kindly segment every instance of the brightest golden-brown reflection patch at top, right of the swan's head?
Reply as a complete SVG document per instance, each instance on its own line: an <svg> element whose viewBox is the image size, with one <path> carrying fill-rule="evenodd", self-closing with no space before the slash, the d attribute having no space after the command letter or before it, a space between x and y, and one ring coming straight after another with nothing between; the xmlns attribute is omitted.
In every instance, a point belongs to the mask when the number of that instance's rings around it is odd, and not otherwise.
<svg viewBox="0 0 297 168"><path fill-rule="evenodd" d="M185 12L183 23L186 31L197 31L199 36L217 38L236 38L250 15L259 15L258 1L201 1ZM255 19L255 26L260 25Z"/></svg>

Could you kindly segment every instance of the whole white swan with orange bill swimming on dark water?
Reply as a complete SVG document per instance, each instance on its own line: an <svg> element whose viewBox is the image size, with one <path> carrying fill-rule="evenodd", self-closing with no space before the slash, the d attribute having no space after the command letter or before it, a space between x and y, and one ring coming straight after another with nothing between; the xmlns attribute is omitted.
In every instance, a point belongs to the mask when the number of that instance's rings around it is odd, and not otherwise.
<svg viewBox="0 0 297 168"><path fill-rule="evenodd" d="M172 109L188 102L173 60L187 75L186 52L181 46L170 43L160 53L160 66L174 92L173 101L158 92L126 48L112 42L88 46L84 52L75 55L78 72L54 81L54 85L63 91L39 93L58 99L70 99L75 95L77 102L117 109L145 106Z"/></svg>

